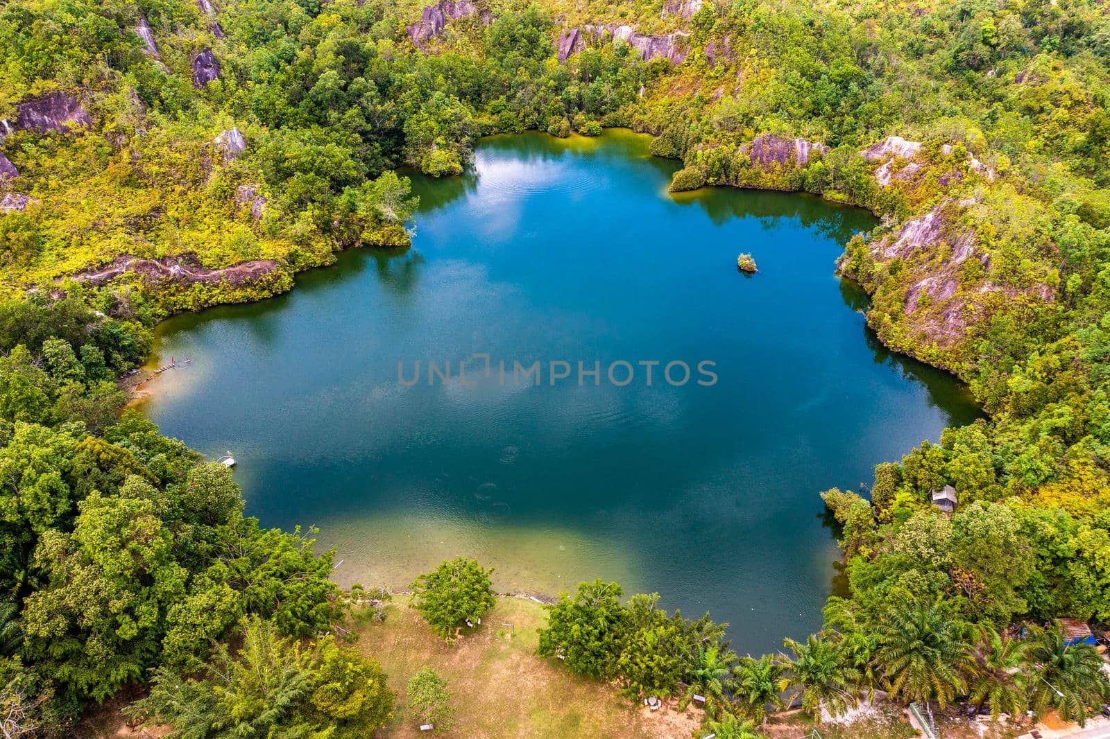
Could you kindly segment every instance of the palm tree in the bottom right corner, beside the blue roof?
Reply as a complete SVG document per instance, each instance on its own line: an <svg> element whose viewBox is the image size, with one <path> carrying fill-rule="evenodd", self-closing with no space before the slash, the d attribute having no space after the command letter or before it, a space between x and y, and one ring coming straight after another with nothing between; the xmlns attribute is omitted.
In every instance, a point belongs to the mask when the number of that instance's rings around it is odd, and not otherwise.
<svg viewBox="0 0 1110 739"><path fill-rule="evenodd" d="M1033 630L1026 657L1031 667L1029 703L1038 716L1053 706L1060 718L1084 726L1091 709L1110 699L1102 658L1091 645L1069 645L1059 622Z"/></svg>

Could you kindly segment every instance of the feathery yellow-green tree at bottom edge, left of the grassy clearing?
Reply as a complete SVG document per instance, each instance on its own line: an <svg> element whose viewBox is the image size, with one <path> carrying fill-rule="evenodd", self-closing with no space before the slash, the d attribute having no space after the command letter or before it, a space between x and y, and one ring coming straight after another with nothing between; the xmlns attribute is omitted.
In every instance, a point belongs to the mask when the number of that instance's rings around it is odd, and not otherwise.
<svg viewBox="0 0 1110 739"><path fill-rule="evenodd" d="M219 644L208 662L184 671L158 668L150 695L129 712L172 726L170 737L216 739L357 739L392 718L395 696L376 661L339 648L331 637L303 647L258 617L243 628L234 655Z"/></svg>

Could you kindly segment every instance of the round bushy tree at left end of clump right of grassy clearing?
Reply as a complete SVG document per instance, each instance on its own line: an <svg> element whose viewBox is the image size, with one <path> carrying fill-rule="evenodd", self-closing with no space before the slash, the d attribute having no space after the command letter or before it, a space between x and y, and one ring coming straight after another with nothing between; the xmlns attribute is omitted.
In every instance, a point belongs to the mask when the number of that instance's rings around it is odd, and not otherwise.
<svg viewBox="0 0 1110 739"><path fill-rule="evenodd" d="M539 629L542 657L561 657L571 671L607 680L616 675L628 628L616 583L579 583L572 599L559 595L547 606L547 626Z"/></svg>

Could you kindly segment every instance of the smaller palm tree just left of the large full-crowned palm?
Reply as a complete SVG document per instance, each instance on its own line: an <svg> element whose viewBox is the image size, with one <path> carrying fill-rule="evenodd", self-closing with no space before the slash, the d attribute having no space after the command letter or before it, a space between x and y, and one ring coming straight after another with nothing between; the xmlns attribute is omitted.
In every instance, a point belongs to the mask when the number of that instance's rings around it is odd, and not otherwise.
<svg viewBox="0 0 1110 739"><path fill-rule="evenodd" d="M835 717L859 703L851 691L859 671L845 665L836 644L810 634L805 644L786 639L783 645L794 652L794 659L787 664L784 685L787 689L797 689L801 710L816 716L824 709Z"/></svg>

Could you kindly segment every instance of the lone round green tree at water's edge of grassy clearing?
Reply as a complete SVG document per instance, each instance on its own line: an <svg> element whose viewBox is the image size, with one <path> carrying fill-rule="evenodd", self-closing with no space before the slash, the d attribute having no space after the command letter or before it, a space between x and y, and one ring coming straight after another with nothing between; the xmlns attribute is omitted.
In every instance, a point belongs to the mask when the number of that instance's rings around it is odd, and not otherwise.
<svg viewBox="0 0 1110 739"><path fill-rule="evenodd" d="M413 581L414 606L436 634L453 641L464 625L476 625L494 606L492 574L493 569L483 569L477 559L445 561Z"/></svg>

